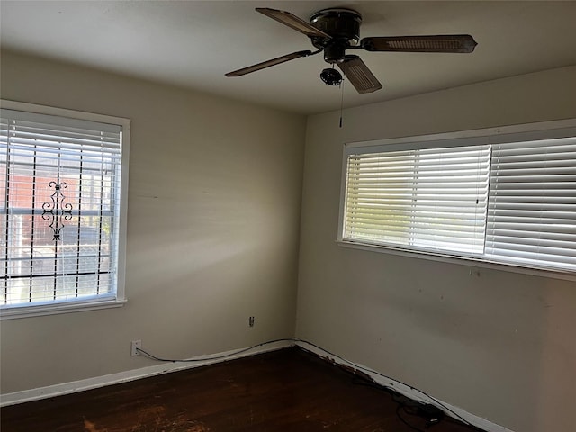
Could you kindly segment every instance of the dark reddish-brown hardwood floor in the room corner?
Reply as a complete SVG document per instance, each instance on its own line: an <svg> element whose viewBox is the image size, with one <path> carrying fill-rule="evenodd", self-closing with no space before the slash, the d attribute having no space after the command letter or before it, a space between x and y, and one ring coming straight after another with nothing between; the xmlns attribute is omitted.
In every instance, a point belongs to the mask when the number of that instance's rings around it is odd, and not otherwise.
<svg viewBox="0 0 576 432"><path fill-rule="evenodd" d="M390 392L298 347L0 410L2 432L471 432L426 429ZM401 401L405 398L400 397ZM410 402L408 402L410 405Z"/></svg>

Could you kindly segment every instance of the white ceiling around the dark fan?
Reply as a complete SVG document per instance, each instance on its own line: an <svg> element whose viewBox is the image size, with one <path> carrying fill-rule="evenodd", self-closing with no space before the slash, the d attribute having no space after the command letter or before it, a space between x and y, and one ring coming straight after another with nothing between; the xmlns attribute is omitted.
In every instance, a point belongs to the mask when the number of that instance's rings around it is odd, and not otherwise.
<svg viewBox="0 0 576 432"><path fill-rule="evenodd" d="M472 34L472 54L355 51L384 88L345 106L576 65L576 2L563 1L9 1L0 2L3 48L184 85L210 94L313 113L340 106L320 82L321 54L240 77L224 74L302 49L310 40L255 7L307 20L328 7L363 15L361 37ZM576 76L575 76L576 79Z"/></svg>

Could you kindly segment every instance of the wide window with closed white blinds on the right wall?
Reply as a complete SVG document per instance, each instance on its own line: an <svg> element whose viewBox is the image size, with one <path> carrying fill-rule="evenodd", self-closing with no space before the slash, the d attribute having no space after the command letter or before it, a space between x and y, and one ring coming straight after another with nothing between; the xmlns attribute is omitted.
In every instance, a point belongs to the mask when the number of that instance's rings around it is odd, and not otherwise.
<svg viewBox="0 0 576 432"><path fill-rule="evenodd" d="M339 240L576 275L576 121L345 146Z"/></svg>

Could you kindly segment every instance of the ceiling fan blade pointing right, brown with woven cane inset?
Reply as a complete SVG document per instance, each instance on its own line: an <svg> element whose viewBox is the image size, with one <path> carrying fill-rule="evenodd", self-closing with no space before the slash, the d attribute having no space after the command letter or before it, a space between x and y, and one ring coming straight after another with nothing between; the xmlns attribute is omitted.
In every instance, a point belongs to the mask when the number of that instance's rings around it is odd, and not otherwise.
<svg viewBox="0 0 576 432"><path fill-rule="evenodd" d="M445 34L364 38L360 45L367 51L472 52L478 44L469 34Z"/></svg>

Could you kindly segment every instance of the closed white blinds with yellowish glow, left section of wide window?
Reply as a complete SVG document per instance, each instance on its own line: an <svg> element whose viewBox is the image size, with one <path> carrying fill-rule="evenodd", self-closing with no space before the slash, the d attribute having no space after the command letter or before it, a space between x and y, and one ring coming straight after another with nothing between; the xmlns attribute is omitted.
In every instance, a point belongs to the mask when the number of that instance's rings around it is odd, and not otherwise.
<svg viewBox="0 0 576 432"><path fill-rule="evenodd" d="M350 155L344 238L482 254L490 147Z"/></svg>

